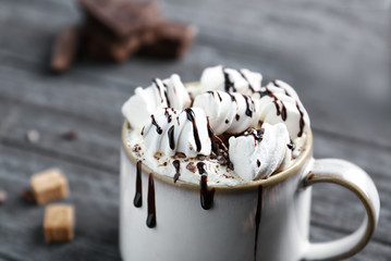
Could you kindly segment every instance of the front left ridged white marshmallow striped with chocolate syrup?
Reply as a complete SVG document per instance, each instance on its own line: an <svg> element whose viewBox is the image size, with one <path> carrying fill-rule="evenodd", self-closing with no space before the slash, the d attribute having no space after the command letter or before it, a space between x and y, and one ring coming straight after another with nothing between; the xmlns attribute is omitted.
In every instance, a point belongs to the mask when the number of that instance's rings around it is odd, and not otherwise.
<svg viewBox="0 0 391 261"><path fill-rule="evenodd" d="M151 154L161 152L174 156L182 152L186 158L210 154L208 121L199 108L187 108L183 111L157 108L142 135Z"/></svg>

